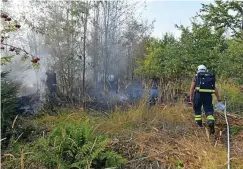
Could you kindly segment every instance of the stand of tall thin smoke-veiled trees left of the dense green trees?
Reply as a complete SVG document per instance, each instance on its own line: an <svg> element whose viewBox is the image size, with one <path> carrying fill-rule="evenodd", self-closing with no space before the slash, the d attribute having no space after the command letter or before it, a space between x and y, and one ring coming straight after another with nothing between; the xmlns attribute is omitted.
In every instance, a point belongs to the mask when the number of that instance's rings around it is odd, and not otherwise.
<svg viewBox="0 0 243 169"><path fill-rule="evenodd" d="M138 2L31 1L31 6L38 6L32 11L36 17L27 13L24 20L45 39L63 99L85 103L85 90L101 79L106 85L109 74L124 78L129 70L133 78L139 41L151 30L135 17Z"/></svg>

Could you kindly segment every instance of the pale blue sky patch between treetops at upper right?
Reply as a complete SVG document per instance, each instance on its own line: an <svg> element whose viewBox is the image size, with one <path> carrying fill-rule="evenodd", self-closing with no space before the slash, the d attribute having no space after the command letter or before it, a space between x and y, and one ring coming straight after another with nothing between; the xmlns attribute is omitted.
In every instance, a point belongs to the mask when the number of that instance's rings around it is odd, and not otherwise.
<svg viewBox="0 0 243 169"><path fill-rule="evenodd" d="M180 36L174 25L182 24L189 26L190 19L199 12L201 3L209 4L213 1L162 1L148 0L147 10L144 12L144 17L154 23L154 32L152 36L162 37L166 32L170 32L175 36Z"/></svg>

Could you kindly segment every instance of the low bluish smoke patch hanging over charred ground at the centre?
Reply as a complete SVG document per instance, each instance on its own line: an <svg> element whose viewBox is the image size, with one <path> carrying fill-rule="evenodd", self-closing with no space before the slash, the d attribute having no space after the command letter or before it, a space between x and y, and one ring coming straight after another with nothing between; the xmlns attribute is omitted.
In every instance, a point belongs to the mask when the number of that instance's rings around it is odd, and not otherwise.
<svg viewBox="0 0 243 169"><path fill-rule="evenodd" d="M98 111L112 110L115 106L126 106L140 101L144 97L144 87L141 81L131 80L128 84L124 81L118 81L115 76L114 81L106 84L100 81L97 88L88 91L92 98L88 102L88 107ZM109 81L109 79L108 79Z"/></svg>

